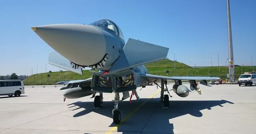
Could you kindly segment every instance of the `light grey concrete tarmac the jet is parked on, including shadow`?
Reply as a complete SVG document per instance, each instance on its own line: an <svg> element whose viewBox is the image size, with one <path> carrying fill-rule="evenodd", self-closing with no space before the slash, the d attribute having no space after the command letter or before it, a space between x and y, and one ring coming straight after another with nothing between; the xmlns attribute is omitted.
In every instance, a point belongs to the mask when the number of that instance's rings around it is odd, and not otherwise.
<svg viewBox="0 0 256 134"><path fill-rule="evenodd" d="M131 104L129 99L119 103L118 126L112 120L114 94L103 94L103 107L92 109L91 96L64 102L59 86L25 87L20 97L0 96L0 133L255 134L256 86L199 86L201 95L190 92L186 98L169 91L169 109L161 108L156 85L138 88L140 101L133 96Z"/></svg>

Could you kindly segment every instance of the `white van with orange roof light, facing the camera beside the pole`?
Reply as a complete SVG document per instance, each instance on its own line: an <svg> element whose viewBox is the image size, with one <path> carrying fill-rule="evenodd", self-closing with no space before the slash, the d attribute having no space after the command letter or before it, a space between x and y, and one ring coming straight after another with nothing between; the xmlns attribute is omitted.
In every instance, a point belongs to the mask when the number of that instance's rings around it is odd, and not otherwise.
<svg viewBox="0 0 256 134"><path fill-rule="evenodd" d="M238 79L238 85L256 85L256 74L244 73Z"/></svg>

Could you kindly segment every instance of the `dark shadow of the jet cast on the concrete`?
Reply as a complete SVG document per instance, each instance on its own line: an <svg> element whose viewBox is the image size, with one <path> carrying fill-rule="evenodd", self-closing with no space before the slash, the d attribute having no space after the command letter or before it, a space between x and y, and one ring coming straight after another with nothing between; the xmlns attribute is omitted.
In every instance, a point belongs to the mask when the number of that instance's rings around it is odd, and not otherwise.
<svg viewBox="0 0 256 134"><path fill-rule="evenodd" d="M121 112L122 120L127 116L131 111L136 109L139 105L141 105L146 99L141 98L140 101L133 100L132 104L129 101L123 101L119 103L119 110ZM179 116L183 116L186 114L190 114L195 117L202 117L203 114L200 110L208 109L211 110L211 107L214 106L222 106L224 103L234 104L233 102L226 101L226 100L210 100L210 101L169 101L170 107L169 109L162 109L161 103L159 98L152 98L150 99L145 105L140 107L140 109L136 112L139 116L136 117L131 116L128 120L122 122L120 126L117 128L117 132L125 133L136 133L136 132L151 132L156 133L161 131L161 133L174 133L173 132L173 124L169 123L169 119L176 118ZM79 117L86 115L90 112L95 112L101 114L103 116L107 116L112 118L112 109L113 109L113 102L105 101L103 102L103 107L101 109L92 109L94 106L94 102L75 102L68 104L70 106L68 108L72 108L78 106L78 108L72 109L75 111L77 109L85 109L76 113L73 117ZM214 111L213 111L214 112ZM142 117L144 115L148 115L148 117ZM142 123L144 122L144 123ZM145 127L146 124L146 127ZM150 124L150 125L149 125ZM150 126L154 127L150 127ZM115 126L112 123L109 127ZM136 128L137 127L137 128ZM161 129L157 129L161 128ZM144 130L145 129L145 130Z"/></svg>

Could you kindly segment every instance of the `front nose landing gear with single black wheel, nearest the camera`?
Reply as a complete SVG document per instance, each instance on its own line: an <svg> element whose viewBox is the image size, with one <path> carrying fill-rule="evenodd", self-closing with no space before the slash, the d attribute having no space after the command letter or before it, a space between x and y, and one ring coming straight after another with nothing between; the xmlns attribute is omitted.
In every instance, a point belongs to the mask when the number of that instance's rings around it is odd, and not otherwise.
<svg viewBox="0 0 256 134"><path fill-rule="evenodd" d="M121 113L118 110L119 93L115 93L114 109L112 110L113 122L119 124L121 122Z"/></svg>

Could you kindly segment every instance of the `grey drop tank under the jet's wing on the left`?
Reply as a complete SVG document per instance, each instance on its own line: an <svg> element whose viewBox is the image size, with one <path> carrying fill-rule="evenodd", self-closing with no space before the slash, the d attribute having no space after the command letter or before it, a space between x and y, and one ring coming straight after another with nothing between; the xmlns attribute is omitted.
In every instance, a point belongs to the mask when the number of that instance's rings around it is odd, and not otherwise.
<svg viewBox="0 0 256 134"><path fill-rule="evenodd" d="M63 96L68 99L77 99L85 96L92 95L91 87L75 87L67 89Z"/></svg>

